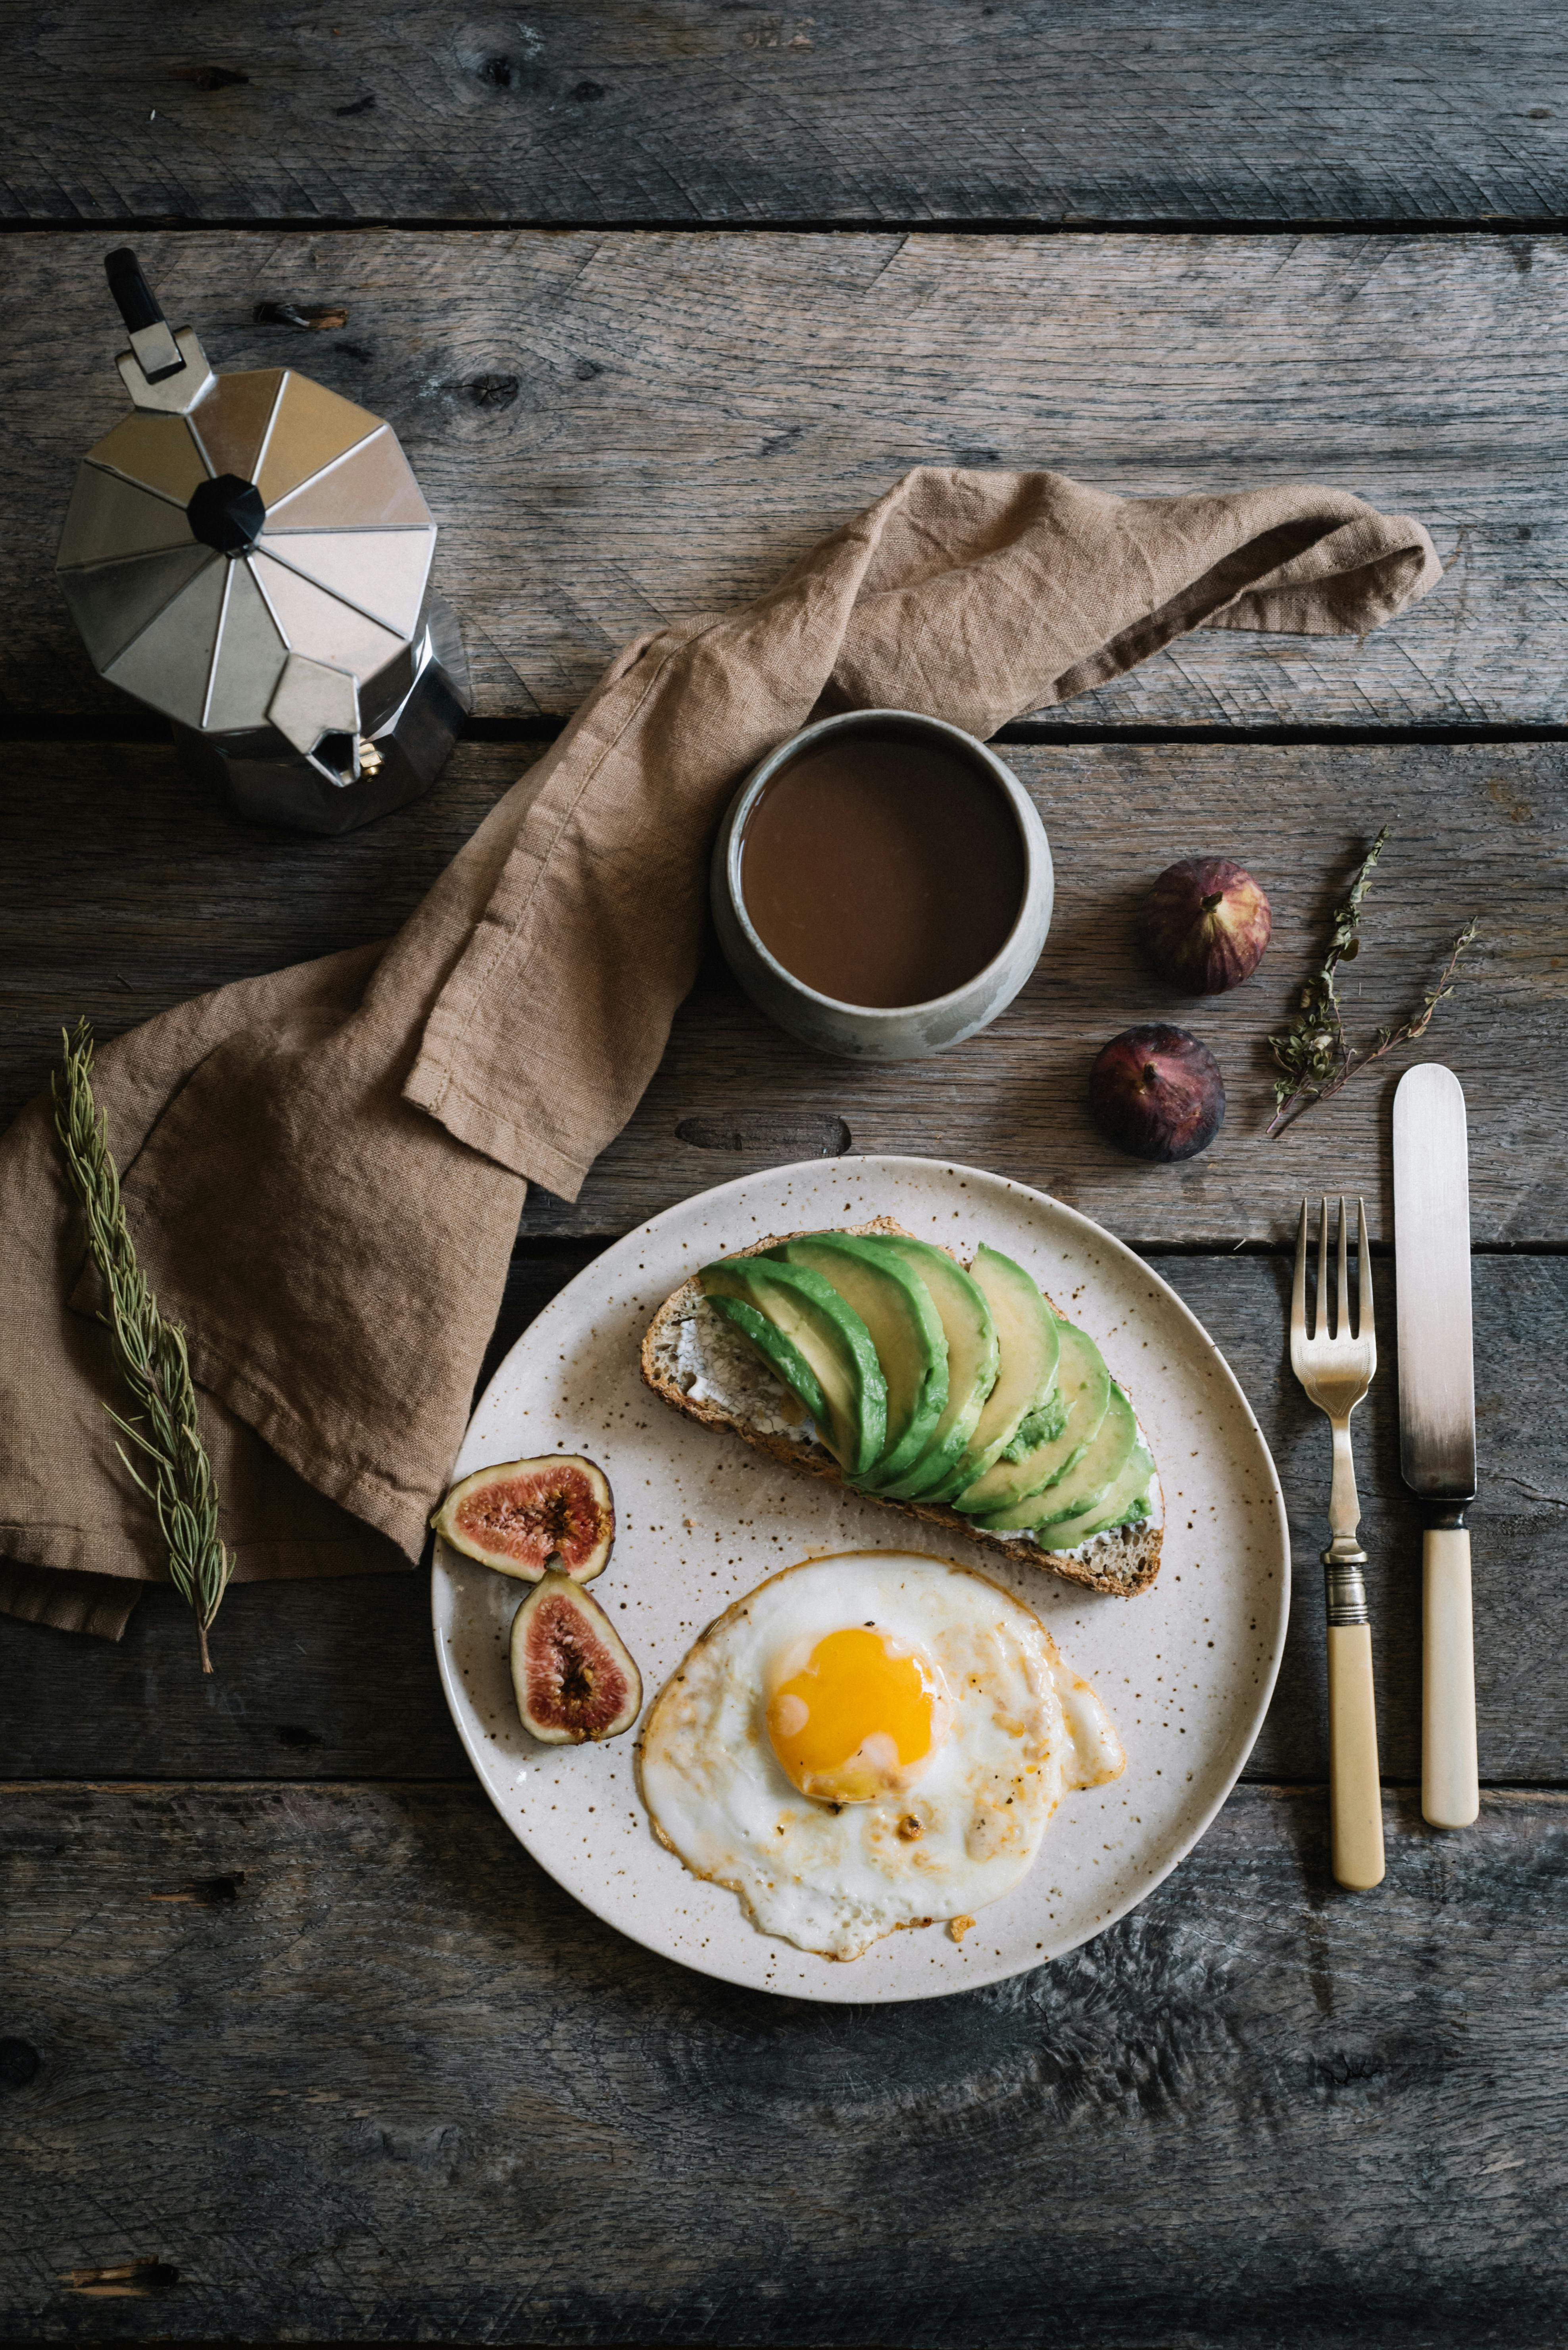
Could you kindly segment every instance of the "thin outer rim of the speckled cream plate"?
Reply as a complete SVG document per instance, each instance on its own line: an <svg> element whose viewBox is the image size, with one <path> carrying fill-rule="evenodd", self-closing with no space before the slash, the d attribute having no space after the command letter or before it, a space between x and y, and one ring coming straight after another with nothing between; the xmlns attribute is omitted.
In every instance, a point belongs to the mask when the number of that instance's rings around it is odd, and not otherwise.
<svg viewBox="0 0 1568 2350"><path fill-rule="evenodd" d="M786 1177L786 1175L812 1175L812 1177L819 1177L826 1168L859 1168L859 1170L864 1170L864 1168L887 1168L887 1170L906 1170L906 1168L932 1170L932 1168L939 1168L944 1175L972 1177L972 1180L976 1180L976 1182L981 1182L986 1187L998 1187L1002 1191L1012 1191L1014 1196L1028 1201L1030 1206L1035 1206L1035 1203L1045 1206L1054 1215L1066 1215L1068 1222L1075 1224L1084 1238L1091 1236L1094 1241L1106 1243L1110 1250L1115 1250L1115 1255L1124 1264L1136 1267L1136 1271L1143 1278L1153 1281L1153 1285L1162 1292L1162 1297L1164 1297L1167 1304L1176 1307L1178 1316L1190 1325L1190 1330L1207 1347L1209 1356L1214 1358L1214 1363L1223 1372L1223 1377L1225 1377L1225 1382L1230 1386L1232 1401L1242 1408L1246 1429L1251 1431L1251 1436L1253 1436L1253 1441L1258 1445L1258 1452L1263 1457L1263 1464L1268 1469L1268 1490L1272 1492L1272 1499L1275 1499L1275 1516L1277 1516L1277 1530L1279 1530L1279 1612L1277 1612L1277 1624L1275 1624L1272 1654L1268 1659L1268 1671L1261 1676L1258 1697L1253 1701L1253 1711L1251 1711L1244 1739L1242 1739L1239 1751L1237 1751L1235 1770L1228 1774L1225 1784L1216 1793L1214 1802L1202 1812L1202 1817L1197 1819L1197 1824L1192 1826L1192 1831L1174 1845L1171 1854L1162 1861L1162 1866L1157 1871L1153 1871L1143 1880L1143 1885L1138 1887L1138 1892L1129 1894L1127 1901L1122 1901L1117 1908L1113 1908L1106 1918L1096 1920L1096 1925L1087 1927L1087 1932L1077 1934L1073 1941L1068 1941L1052 1958L1035 1960L1035 1965L1047 1965L1049 1967L1049 1965L1056 1965L1061 1958L1068 1958L1073 1950L1082 1950L1084 1943L1099 1941L1099 1936L1108 1934L1113 1925L1120 1925L1122 1918L1127 1918L1127 1915L1131 1915L1131 1911L1141 1908L1141 1904L1148 1901L1148 1896L1153 1892L1157 1892L1160 1885L1164 1885L1164 1880L1169 1875L1174 1875L1174 1871L1181 1868L1181 1864L1204 1840L1204 1835L1209 1833L1209 1828L1214 1826L1214 1821L1218 1819L1218 1814L1225 1810L1225 1805L1235 1795L1237 1784L1242 1779L1242 1772L1246 1770L1246 1765L1251 1760L1251 1751L1258 1744L1258 1734L1261 1734L1263 1723L1268 1718L1268 1708L1270 1708L1270 1704L1275 1699L1275 1685L1279 1680L1279 1666L1284 1661L1284 1645L1286 1645L1289 1629L1291 1629L1291 1523L1289 1523L1289 1511L1286 1511L1286 1502L1284 1502L1284 1488L1279 1483L1279 1469L1275 1464L1275 1455L1270 1450L1268 1436L1263 1434L1263 1429L1258 1424L1258 1415L1253 1412L1251 1401L1246 1396L1246 1389L1242 1386L1242 1382L1237 1379L1235 1370L1230 1368L1230 1361L1225 1358L1223 1349L1216 1344L1216 1340L1202 1325L1202 1321L1197 1318L1197 1314L1192 1311L1192 1307L1185 1302L1185 1297L1181 1297L1171 1288L1171 1283L1164 1281L1164 1276L1155 1269L1155 1264L1148 1257L1141 1257L1136 1248L1131 1248L1127 1241L1117 1238L1115 1231L1108 1231L1106 1224L1096 1224L1091 1215L1082 1213L1082 1208L1068 1206L1068 1201L1056 1198L1052 1191L1042 1191L1038 1184L1019 1182L1012 1175L998 1175L993 1168L967 1166L960 1159L927 1159L927 1156L920 1156L918 1152L843 1152L840 1156L833 1156L833 1159L789 1159L789 1161L784 1161L779 1166L751 1168L751 1173L746 1173L746 1175L732 1175L728 1182L709 1184L704 1191L690 1191L685 1198L671 1201L669 1208L660 1208L657 1215L643 1217L641 1224L634 1224L631 1231L624 1231L617 1238L613 1238L608 1248L603 1248L596 1257L589 1260L589 1264L582 1267L582 1271L573 1274L573 1278L563 1288L559 1288L556 1295L535 1314L535 1318L528 1323L528 1328L516 1335L516 1340L512 1342L512 1347L507 1347L505 1356L500 1358L500 1363L495 1365L495 1370L486 1379L479 1401L474 1403L472 1412L467 1415L467 1422L465 1422L465 1429L462 1429L462 1438L458 1443L458 1452L453 1455L453 1466L462 1457L462 1445L469 1438L469 1429L474 1426L474 1419L484 1410L491 1391L495 1389L495 1382L507 1372L507 1365L512 1363L512 1358L519 1351L519 1347L523 1347L528 1340L533 1340L533 1335L540 1328L540 1323L545 1323L554 1314L554 1309L561 1304L561 1300L568 1297L577 1288L577 1283L589 1281L589 1276L599 1271L599 1267L606 1262L606 1257L615 1255L620 1248L629 1248L634 1241L643 1241L646 1234L657 1231L657 1227L664 1224L667 1217L681 1215L681 1213L699 1206L702 1201L716 1201L716 1198L723 1198L725 1194L744 1191L749 1184L756 1184L761 1180L775 1180L775 1177ZM448 1476L448 1485L451 1485L451 1476ZM540 1854L533 1849L533 1845L523 1835L521 1826L514 1819L509 1819L507 1812L502 1810L500 1795L491 1786L491 1781L486 1777L486 1770L481 1767L481 1760L479 1760L479 1753L474 1751L474 1741L469 1737L467 1723L462 1720L462 1713L458 1708L458 1692L455 1692L455 1685L453 1685L453 1666L451 1666L451 1657L448 1657L448 1645L446 1645L444 1633L441 1633L439 1600L441 1600L441 1586L444 1586L444 1577L446 1577L446 1567L441 1563L441 1556L444 1556L444 1544L441 1544L441 1537L437 1535L434 1549L432 1549L432 1560L430 1560L430 1631L432 1631L432 1643L434 1643L434 1652L437 1652L437 1678L441 1683L441 1697L446 1699L446 1711L451 1713L453 1730L458 1732L458 1741L460 1741L465 1755L469 1758L474 1777L479 1779L479 1786L484 1788L491 1807L495 1810L495 1814L500 1817L500 1821L509 1831L509 1835L514 1835L516 1842L523 1847L523 1852L535 1864L535 1868L542 1868L545 1875L552 1880L552 1885L559 1885L561 1892L570 1901L575 1901L580 1908L589 1911L592 1918L599 1918L599 1922L606 1925L606 1927L610 1927L613 1934L622 1934L636 1948L648 1950L653 1958L660 1958L667 1965L685 1967L688 1974L699 1974L704 1981L711 1981L711 1983L732 1983L737 1990L758 1990L758 1993L765 1993L768 1998L775 1998L775 2000L800 2000L800 2002L805 2002L810 2007L850 2007L850 2005L906 2007L906 2005L913 2005L915 2000L944 2000L944 1998L955 1998L955 1995L967 1993L967 1990L984 1990L988 1983L1009 1983L1009 1981L1016 1981L1016 1976L1033 1972L1033 1967L1026 1962L1021 1967L1009 1967L1009 1969L1005 1969L1000 1974L976 1974L976 1976L972 1976L967 1981L953 1979L953 1981L944 1981L944 1983L930 1983L930 1986L922 1986L922 1988L915 1988L915 1990L901 1990L901 1988L899 1990L869 1990L857 2002L852 1998L850 2000L838 1998L836 1993L829 1993L826 1988L822 1993L817 1993L817 1990L798 1986L798 1983L782 1986L782 1983L768 1983L768 1981L761 1981L761 1983L756 1983L756 1981L739 1981L735 1974L725 1972L723 1967L704 1967L695 1958L683 1958L683 1955L676 1955L671 1950L662 1950L655 1943L646 1941L634 1927L624 1925L620 1918L606 1915L606 1911L599 1908L599 1904L594 1904L584 1894L575 1892L575 1887L563 1885L561 1878L556 1878L556 1873L549 1868L549 1864L540 1859ZM641 1716L638 1716L638 1720L641 1720ZM768 1941L770 1936L761 1934L761 1939Z"/></svg>

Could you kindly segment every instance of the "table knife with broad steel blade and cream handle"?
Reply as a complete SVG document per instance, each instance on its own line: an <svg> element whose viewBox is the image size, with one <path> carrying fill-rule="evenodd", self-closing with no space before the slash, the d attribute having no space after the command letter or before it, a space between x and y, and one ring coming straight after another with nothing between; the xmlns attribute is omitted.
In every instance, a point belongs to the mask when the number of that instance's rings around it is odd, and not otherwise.
<svg viewBox="0 0 1568 2350"><path fill-rule="evenodd" d="M1476 1781L1469 1532L1476 1391L1469 1337L1469 1159L1453 1069L1406 1069L1394 1093L1399 1466L1427 1513L1422 1542L1420 1810L1467 1828Z"/></svg>

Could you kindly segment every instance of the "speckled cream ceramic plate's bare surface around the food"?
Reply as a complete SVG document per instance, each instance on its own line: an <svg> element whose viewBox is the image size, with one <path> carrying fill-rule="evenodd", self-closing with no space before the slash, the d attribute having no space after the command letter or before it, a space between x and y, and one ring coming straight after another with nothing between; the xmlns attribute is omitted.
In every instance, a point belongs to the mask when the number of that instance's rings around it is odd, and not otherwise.
<svg viewBox="0 0 1568 2350"><path fill-rule="evenodd" d="M1164 1565L1131 1600L1080 1591L775 1466L657 1403L638 1344L709 1257L770 1231L894 1215L962 1257L988 1241L1101 1344L1164 1480ZM695 1636L765 1574L822 1551L925 1551L1009 1584L1101 1692L1127 1746L1113 1786L1063 1798L1028 1878L962 1943L932 1925L838 1962L756 1932L648 1826L636 1734L538 1746L516 1720L507 1633L523 1586L437 1546L446 1701L495 1810L599 1918L683 1967L800 2000L930 2000L1099 1934L1204 1833L1251 1751L1284 1645L1289 1539L1268 1445L1214 1340L1131 1250L1042 1191L934 1159L815 1159L704 1191L596 1257L495 1372L455 1476L538 1452L610 1476L617 1537L594 1596L650 1701Z"/></svg>

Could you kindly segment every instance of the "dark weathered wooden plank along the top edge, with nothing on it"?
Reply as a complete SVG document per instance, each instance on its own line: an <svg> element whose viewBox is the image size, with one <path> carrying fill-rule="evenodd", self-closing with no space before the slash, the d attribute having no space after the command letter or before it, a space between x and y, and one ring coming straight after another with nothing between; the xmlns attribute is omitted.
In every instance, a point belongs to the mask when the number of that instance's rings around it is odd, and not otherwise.
<svg viewBox="0 0 1568 2350"><path fill-rule="evenodd" d="M5 9L12 219L1568 212L1545 0Z"/></svg>

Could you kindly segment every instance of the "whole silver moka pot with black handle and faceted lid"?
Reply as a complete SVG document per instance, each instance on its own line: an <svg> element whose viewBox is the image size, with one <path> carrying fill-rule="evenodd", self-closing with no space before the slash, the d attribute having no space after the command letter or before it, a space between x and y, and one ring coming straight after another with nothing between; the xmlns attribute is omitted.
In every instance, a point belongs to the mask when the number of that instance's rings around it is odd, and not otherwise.
<svg viewBox="0 0 1568 2350"><path fill-rule="evenodd" d="M106 258L134 414L87 451L56 571L94 667L244 815L352 832L434 783L472 710L397 435L291 367L214 376Z"/></svg>

